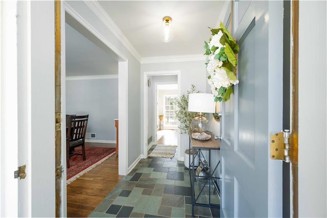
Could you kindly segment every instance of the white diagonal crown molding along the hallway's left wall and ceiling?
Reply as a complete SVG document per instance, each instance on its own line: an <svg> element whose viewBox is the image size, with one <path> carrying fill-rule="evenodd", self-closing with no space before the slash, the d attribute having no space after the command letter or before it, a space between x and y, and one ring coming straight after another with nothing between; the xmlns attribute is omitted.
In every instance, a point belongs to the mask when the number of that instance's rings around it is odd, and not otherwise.
<svg viewBox="0 0 327 218"><path fill-rule="evenodd" d="M113 35L126 47L126 49L138 60L141 56L138 54L133 45L129 42L122 31L115 25L110 16L105 12L97 1L84 1L85 5L93 11L96 16L104 23L104 25L113 33Z"/></svg>

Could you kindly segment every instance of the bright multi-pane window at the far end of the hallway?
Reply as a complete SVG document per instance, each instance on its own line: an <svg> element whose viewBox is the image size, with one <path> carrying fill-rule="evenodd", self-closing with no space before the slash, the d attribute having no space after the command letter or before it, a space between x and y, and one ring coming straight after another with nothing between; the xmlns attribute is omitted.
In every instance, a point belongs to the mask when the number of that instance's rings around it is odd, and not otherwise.
<svg viewBox="0 0 327 218"><path fill-rule="evenodd" d="M164 126L177 126L177 95L164 95Z"/></svg>

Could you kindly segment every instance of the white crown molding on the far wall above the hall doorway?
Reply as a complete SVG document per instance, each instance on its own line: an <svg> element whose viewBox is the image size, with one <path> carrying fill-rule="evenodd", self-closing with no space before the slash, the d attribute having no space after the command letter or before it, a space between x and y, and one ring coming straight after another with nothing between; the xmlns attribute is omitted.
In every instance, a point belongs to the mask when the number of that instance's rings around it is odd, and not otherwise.
<svg viewBox="0 0 327 218"><path fill-rule="evenodd" d="M141 64L150 63L168 63L168 62L185 62L185 61L205 61L204 55L176 55L176 56L158 56L142 58Z"/></svg>

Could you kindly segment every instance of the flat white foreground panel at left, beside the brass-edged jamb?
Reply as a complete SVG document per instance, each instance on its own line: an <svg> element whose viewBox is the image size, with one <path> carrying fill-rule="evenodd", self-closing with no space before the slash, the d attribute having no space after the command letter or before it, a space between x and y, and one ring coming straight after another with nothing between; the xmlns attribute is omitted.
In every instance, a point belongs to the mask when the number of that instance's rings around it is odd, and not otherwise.
<svg viewBox="0 0 327 218"><path fill-rule="evenodd" d="M31 2L31 216L55 216L54 1Z"/></svg>

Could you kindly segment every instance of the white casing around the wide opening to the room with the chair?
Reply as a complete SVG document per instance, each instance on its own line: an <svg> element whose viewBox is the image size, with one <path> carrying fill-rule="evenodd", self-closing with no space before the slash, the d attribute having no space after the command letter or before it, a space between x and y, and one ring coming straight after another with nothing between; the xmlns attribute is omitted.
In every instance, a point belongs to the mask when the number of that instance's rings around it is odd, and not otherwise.
<svg viewBox="0 0 327 218"><path fill-rule="evenodd" d="M128 174L128 59L118 50L114 45L112 45L104 36L101 35L96 29L94 29L81 15L79 15L71 6L66 2L61 2L61 27L65 26L65 12L71 15L77 22L80 23L87 31L93 34L97 39L104 43L108 49L115 53L118 57L118 119L119 119L119 154L120 158L118 160L118 174L127 175ZM61 28L61 47L62 47L62 65L61 65L61 111L62 114L66 114L66 88L65 88L65 32L64 28ZM62 116L61 125L65 125L65 116ZM65 172L66 169L66 132L61 131L61 157L62 166ZM62 214L67 214L67 190L66 190L66 174L63 173L62 176Z"/></svg>

